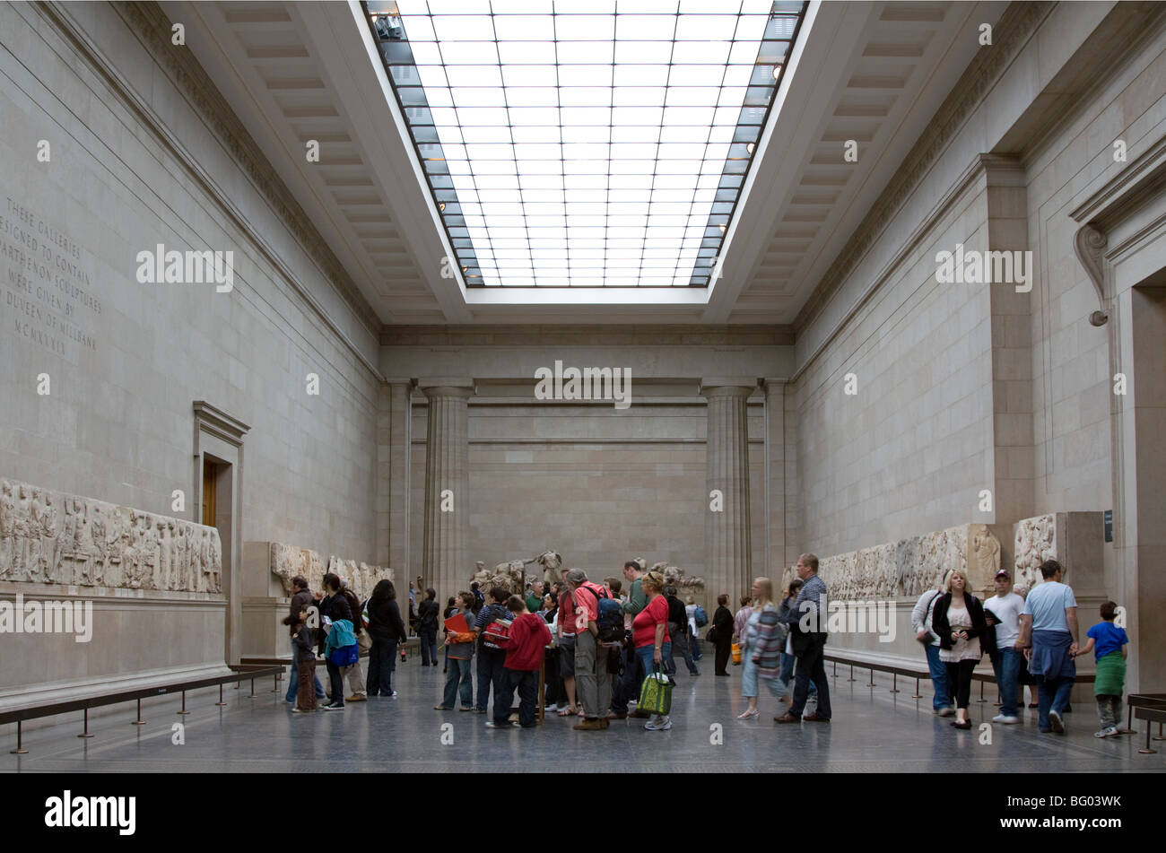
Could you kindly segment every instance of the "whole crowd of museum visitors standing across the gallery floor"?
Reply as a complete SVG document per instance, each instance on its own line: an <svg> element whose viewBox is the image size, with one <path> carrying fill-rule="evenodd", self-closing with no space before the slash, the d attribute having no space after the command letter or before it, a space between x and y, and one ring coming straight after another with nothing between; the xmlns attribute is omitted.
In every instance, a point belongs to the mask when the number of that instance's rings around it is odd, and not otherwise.
<svg viewBox="0 0 1166 853"><path fill-rule="evenodd" d="M775 722L830 721L827 619L819 609L827 590L817 569L813 554L799 557L798 578L780 598L768 578L756 578L736 614L729 609L729 595L718 595L707 640L715 649L716 676L730 676L730 660L742 668L745 710L738 719L760 715L759 686L764 684L788 706L773 718ZM1046 561L1044 583L1018 594L1011 574L1002 570L993 581L996 594L981 601L968 588L967 573L955 569L939 588L920 595L911 621L926 651L934 713L954 715L955 728L971 728L972 674L988 655L1000 699L1000 712L992 721L1020 722L1021 688L1030 685L1035 691L1030 707L1039 709L1039 731L1063 733L1075 658L1093 651L1101 718L1096 736L1118 734L1129 637L1115 625L1117 606L1107 601L1101 607L1102 621L1089 629L1088 643L1079 647L1077 605L1073 590L1062 583L1063 573L1056 561ZM489 713L489 728L531 728L536 725L541 672L548 712L577 717L576 729L602 731L611 720L630 715L647 718L647 731L672 728L666 705L654 705L656 711L648 712L638 707L638 699L649 677L653 686L676 683L677 653L688 674L700 676L700 629L709 623L703 608L691 598L682 602L675 587L666 585L660 572L646 571L642 561L625 563L621 579L598 583L580 569L563 569L560 578L549 585L531 583L524 594L503 586L483 592L471 584L470 590L449 598L443 611L433 588L426 588L423 599L416 601L421 578L409 584L409 623L420 641L422 667L437 665L438 630L444 636L445 679L435 710ZM294 578L293 587L285 625L293 661L286 698L294 711L312 711L316 700L325 698L315 677L316 653L329 675L325 711L370 696L395 697L392 681L398 650L405 660L408 634L392 581L379 581L364 602L333 573L324 576L322 591L310 592L303 577ZM319 620L315 635L308 615L312 605ZM367 654L367 675L361 653ZM511 719L515 692L517 721ZM807 712L810 703L814 709Z"/></svg>

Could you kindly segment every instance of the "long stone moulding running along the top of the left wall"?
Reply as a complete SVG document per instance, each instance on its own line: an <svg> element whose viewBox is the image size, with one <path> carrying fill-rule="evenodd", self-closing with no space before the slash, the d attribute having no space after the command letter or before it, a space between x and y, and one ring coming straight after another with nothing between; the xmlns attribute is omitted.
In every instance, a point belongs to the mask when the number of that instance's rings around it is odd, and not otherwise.
<svg viewBox="0 0 1166 853"><path fill-rule="evenodd" d="M311 225L303 207L295 200L275 169L264 157L259 146L255 144L230 105L211 83L206 72L189 50L174 50L170 44L170 21L157 3L111 2L110 6L149 55L154 65L182 93L187 105L199 115L224 149L230 151L236 165L247 177L272 212L280 218L304 253L316 263L324 280L331 284L349 306L353 318L371 333L377 333L378 326L370 322L370 318L375 317L375 312L315 230L315 226ZM251 225L247 217L231 200L223 188L203 169L197 158L170 132L149 104L138 94L118 70L117 64L87 37L84 28L77 23L64 5L56 0L42 0L37 2L36 8L54 27L57 35L75 49L75 52L99 78L105 80L122 106L177 161L195 184L205 192L208 199L223 211L231 224L251 241L257 252L292 285L292 290L316 315L336 340L378 381L384 381L377 365L337 325L274 247Z"/></svg>

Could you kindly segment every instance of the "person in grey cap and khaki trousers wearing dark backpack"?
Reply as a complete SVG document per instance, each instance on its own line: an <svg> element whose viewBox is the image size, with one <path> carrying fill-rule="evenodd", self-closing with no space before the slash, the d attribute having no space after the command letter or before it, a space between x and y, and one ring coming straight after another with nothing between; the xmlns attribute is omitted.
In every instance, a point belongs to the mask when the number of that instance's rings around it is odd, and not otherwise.
<svg viewBox="0 0 1166 853"><path fill-rule="evenodd" d="M583 704L583 721L575 728L606 728L611 707L611 675L607 672L607 649L603 643L623 637L624 615L619 601L607 591L586 579L582 569L567 572L567 586L575 600L577 634L575 637L575 677ZM611 605L614 605L612 607ZM602 622L602 627L600 627Z"/></svg>

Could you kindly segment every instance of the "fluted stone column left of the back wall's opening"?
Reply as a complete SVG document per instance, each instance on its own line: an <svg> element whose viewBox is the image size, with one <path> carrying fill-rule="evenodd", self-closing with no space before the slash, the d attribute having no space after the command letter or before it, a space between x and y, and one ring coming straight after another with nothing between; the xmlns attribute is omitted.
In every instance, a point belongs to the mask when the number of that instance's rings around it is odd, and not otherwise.
<svg viewBox="0 0 1166 853"><path fill-rule="evenodd" d="M470 531L469 407L472 379L419 382L429 401L426 416L426 531L422 576L444 601L466 586L472 563L466 555ZM410 574L414 574L412 570ZM408 588L407 584L402 584Z"/></svg>

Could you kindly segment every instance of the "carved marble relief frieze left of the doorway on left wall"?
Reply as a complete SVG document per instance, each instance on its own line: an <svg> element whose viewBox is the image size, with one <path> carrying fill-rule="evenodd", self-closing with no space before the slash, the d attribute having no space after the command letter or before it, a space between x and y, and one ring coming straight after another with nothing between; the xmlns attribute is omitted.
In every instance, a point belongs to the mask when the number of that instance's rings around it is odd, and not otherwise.
<svg viewBox="0 0 1166 853"><path fill-rule="evenodd" d="M0 480L0 580L223 591L218 530Z"/></svg>

